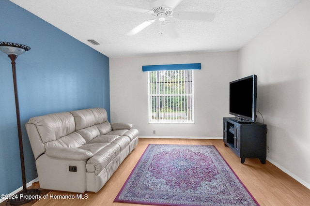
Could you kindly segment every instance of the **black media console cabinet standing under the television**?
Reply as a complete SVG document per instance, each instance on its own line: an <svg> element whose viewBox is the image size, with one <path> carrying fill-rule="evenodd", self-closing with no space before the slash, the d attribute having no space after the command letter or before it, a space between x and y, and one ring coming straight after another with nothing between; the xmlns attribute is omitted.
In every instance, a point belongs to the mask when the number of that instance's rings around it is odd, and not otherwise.
<svg viewBox="0 0 310 206"><path fill-rule="evenodd" d="M223 141L226 147L241 158L259 158L266 163L267 127L259 122L238 122L234 118L223 118Z"/></svg>

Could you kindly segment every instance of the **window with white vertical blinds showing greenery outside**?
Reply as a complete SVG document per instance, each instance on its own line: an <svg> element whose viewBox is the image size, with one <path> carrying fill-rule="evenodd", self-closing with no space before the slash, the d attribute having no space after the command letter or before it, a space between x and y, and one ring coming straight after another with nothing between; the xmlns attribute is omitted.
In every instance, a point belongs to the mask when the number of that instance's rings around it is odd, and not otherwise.
<svg viewBox="0 0 310 206"><path fill-rule="evenodd" d="M193 71L148 72L150 123L194 123Z"/></svg>

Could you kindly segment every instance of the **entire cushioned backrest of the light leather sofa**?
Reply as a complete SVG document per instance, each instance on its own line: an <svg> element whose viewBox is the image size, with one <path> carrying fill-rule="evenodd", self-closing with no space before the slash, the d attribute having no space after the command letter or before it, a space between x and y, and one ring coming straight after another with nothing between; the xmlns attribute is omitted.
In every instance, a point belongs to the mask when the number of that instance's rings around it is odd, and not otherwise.
<svg viewBox="0 0 310 206"><path fill-rule="evenodd" d="M94 137L112 130L103 108L30 118L26 129L35 159L48 147L81 147Z"/></svg>

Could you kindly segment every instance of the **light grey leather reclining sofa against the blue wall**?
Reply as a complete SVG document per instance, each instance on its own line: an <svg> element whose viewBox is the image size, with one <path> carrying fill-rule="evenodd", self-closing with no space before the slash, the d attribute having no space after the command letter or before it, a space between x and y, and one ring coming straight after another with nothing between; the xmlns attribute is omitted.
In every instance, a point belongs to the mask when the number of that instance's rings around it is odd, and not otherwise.
<svg viewBox="0 0 310 206"><path fill-rule="evenodd" d="M99 191L138 144L131 124L110 124L103 108L34 117L26 123L43 189Z"/></svg>

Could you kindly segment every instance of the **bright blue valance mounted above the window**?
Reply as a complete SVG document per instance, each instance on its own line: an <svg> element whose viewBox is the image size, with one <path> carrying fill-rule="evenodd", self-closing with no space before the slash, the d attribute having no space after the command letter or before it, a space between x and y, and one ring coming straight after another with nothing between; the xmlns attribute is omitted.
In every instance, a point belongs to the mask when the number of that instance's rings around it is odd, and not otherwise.
<svg viewBox="0 0 310 206"><path fill-rule="evenodd" d="M164 64L164 65L146 65L142 66L143 72L151 71L166 71L166 70L192 70L192 69L202 69L201 63L192 64Z"/></svg>

